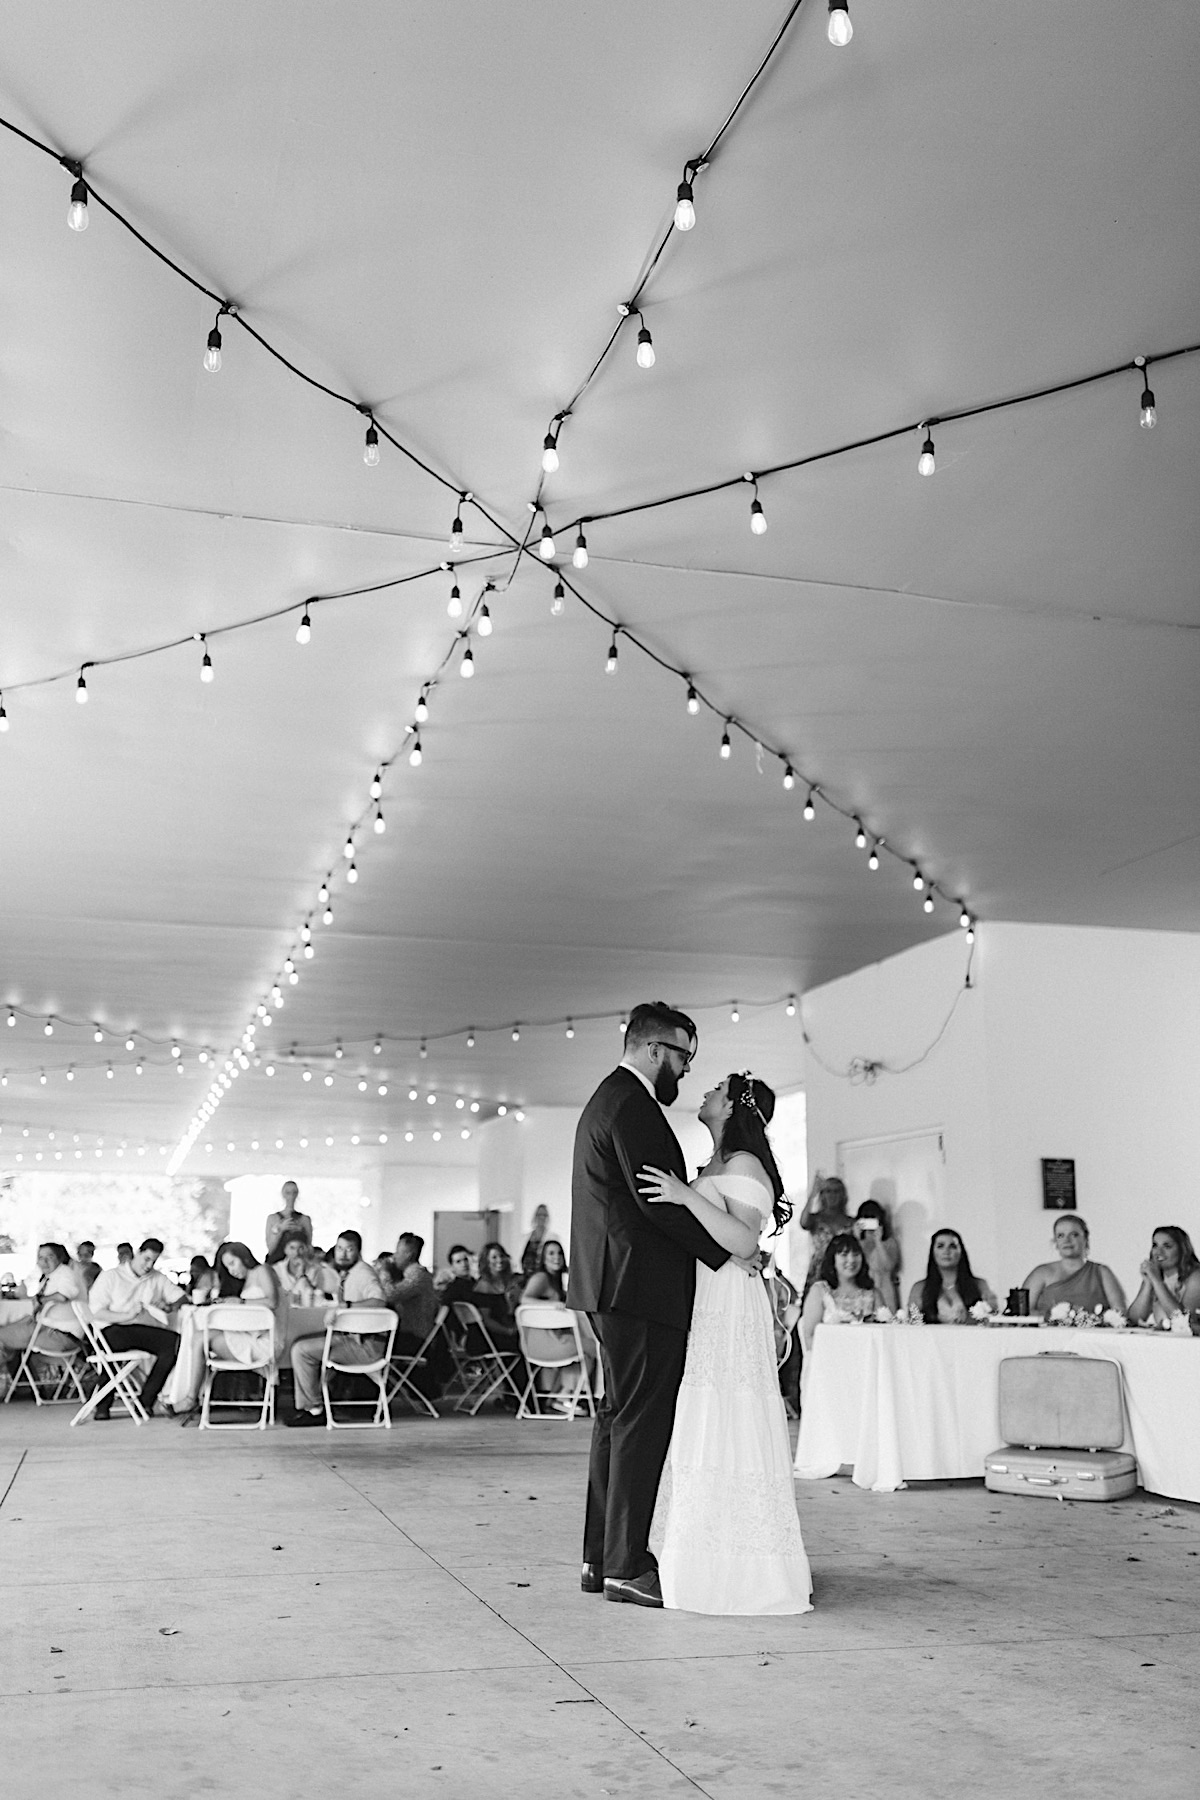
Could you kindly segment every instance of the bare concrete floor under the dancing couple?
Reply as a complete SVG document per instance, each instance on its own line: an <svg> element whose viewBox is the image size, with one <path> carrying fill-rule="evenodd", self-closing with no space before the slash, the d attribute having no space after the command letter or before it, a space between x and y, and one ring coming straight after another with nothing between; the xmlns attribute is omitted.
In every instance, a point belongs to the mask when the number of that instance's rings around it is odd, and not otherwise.
<svg viewBox="0 0 1200 1800"><path fill-rule="evenodd" d="M5 1800L1200 1791L1200 1512L801 1483L817 1611L579 1593L585 1424L0 1408Z"/></svg>

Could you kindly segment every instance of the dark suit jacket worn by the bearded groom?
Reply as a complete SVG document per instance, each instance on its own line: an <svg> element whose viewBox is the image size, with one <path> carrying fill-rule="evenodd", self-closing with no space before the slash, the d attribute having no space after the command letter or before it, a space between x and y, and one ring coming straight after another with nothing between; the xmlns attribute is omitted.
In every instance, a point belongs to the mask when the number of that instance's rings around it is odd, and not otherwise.
<svg viewBox="0 0 1200 1800"><path fill-rule="evenodd" d="M685 1208L640 1197L644 1163L687 1179L684 1152L658 1102L630 1069L613 1069L576 1127L570 1305L579 1312L630 1312L687 1330L696 1262L720 1269L729 1251Z"/></svg>

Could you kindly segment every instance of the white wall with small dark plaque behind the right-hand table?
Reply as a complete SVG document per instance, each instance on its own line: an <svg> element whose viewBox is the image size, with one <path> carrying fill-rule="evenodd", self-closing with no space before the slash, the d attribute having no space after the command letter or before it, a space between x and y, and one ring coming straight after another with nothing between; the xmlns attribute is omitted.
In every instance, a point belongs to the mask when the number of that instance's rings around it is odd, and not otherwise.
<svg viewBox="0 0 1200 1800"><path fill-rule="evenodd" d="M1074 1157L1092 1251L1132 1292L1153 1226L1200 1238L1200 938L984 925L975 986L918 1067L874 1084L824 1067L919 1057L964 963L955 932L804 997L810 1166L833 1170L849 1139L941 1129L945 1222L1002 1294L1049 1256L1040 1159Z"/></svg>

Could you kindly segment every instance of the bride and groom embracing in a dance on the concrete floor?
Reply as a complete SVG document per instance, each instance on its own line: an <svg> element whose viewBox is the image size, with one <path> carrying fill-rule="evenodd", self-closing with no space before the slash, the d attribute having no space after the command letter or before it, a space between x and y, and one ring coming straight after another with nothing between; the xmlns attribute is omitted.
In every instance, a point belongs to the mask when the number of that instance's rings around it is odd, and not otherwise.
<svg viewBox="0 0 1200 1800"><path fill-rule="evenodd" d="M811 1577L754 1260L766 1219L790 1213L766 1138L775 1096L748 1073L703 1096L712 1157L687 1186L662 1107L694 1053L687 1013L635 1006L624 1058L576 1130L570 1303L588 1312L604 1370L581 1586L693 1613L806 1613Z"/></svg>

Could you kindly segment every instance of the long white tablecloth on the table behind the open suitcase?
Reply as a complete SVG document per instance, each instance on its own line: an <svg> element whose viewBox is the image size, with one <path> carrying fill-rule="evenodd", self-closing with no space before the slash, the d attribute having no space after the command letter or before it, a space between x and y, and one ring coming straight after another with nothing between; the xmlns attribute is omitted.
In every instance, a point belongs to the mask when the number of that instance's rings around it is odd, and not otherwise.
<svg viewBox="0 0 1200 1800"><path fill-rule="evenodd" d="M999 1364L1072 1350L1124 1370L1126 1438L1151 1494L1200 1501L1200 1337L986 1325L819 1325L795 1472L889 1494L905 1481L982 1476L999 1449Z"/></svg>

